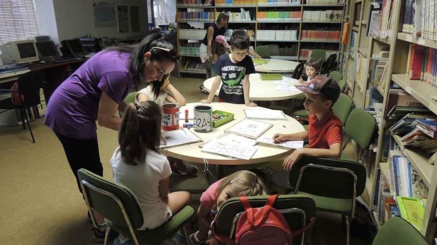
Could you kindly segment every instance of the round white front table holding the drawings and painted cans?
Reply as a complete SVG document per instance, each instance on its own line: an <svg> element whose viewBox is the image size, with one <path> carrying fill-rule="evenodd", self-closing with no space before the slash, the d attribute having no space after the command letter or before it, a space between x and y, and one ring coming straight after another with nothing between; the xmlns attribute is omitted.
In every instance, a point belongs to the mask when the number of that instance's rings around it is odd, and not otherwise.
<svg viewBox="0 0 437 245"><path fill-rule="evenodd" d="M195 105L201 103L189 103L186 106L181 107L181 111L185 109L192 109ZM241 121L245 118L243 109L251 108L251 109L266 109L263 107L248 107L244 104L231 104L231 103L223 103L223 102L214 102L210 104L214 110L226 111L234 114L234 120L225 123L217 128L213 128L211 132L208 133L198 133L194 131L194 128L191 128L191 132L196 134L199 138L203 140L203 142L208 142L212 139L217 138L222 135L224 130L230 128L237 122ZM283 133L283 134L291 134L304 131L303 126L297 122L294 118L287 116L288 120L260 120L273 124L265 135L273 135L275 133ZM192 120L191 120L192 121ZM180 120L180 124L184 121ZM286 156L292 152L293 149L285 149L279 147L266 147L257 145L258 150L255 152L253 157L250 160L244 159L235 159L228 158L221 155L210 154L206 152L201 152L201 148L199 147L199 143L177 146L177 147L169 147L161 150L161 153L164 155L172 156L178 159L182 159L185 161L204 163L204 159L208 161L209 164L217 164L217 165L241 165L241 164L253 164L260 162L267 162L270 160L278 159L283 156Z"/></svg>

